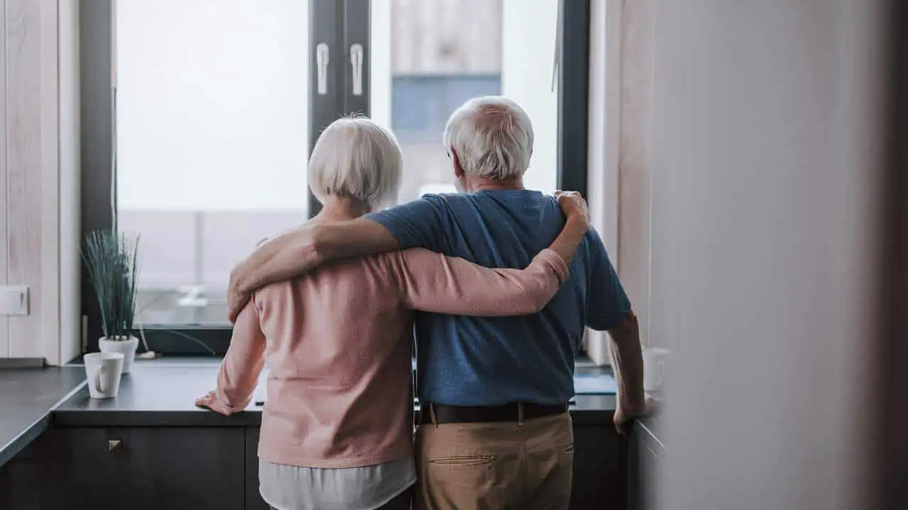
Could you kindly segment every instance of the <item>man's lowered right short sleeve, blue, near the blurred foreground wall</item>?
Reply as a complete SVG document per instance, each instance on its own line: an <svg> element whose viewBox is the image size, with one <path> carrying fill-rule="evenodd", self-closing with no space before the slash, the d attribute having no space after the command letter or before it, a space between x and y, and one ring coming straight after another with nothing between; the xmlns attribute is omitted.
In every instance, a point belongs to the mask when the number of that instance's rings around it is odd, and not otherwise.
<svg viewBox="0 0 908 510"><path fill-rule="evenodd" d="M587 292L587 326L598 331L620 324L630 312L630 300L608 260L606 247L596 230L589 230L590 257Z"/></svg>

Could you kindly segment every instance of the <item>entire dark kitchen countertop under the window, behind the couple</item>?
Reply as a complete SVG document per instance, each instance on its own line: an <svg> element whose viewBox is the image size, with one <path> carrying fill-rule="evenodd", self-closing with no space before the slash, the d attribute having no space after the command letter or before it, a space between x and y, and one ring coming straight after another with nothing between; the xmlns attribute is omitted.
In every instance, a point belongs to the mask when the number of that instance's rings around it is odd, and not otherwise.
<svg viewBox="0 0 908 510"><path fill-rule="evenodd" d="M123 375L116 398L93 400L84 386L84 368L0 370L0 466L47 427L258 427L262 406L224 417L195 407L196 397L215 384L220 358L136 360ZM610 373L587 363L577 375ZM614 395L579 395L570 407L577 425L611 424ZM419 405L415 406L419 410ZM649 430L653 431L651 422Z"/></svg>

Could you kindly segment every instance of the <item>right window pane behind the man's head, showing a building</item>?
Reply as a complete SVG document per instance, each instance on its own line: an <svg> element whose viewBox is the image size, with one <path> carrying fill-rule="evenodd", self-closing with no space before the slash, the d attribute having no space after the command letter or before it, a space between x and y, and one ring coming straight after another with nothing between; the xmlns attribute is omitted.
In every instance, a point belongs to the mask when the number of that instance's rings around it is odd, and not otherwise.
<svg viewBox="0 0 908 510"><path fill-rule="evenodd" d="M445 123L469 98L499 93L533 122L525 184L555 190L558 0L373 0L370 19L371 116L400 142L400 201L454 191Z"/></svg>

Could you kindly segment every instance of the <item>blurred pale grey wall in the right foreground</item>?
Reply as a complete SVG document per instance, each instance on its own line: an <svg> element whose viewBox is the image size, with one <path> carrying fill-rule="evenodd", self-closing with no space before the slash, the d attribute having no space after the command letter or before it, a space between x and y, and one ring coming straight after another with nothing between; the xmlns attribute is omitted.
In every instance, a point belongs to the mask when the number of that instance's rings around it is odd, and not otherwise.
<svg viewBox="0 0 908 510"><path fill-rule="evenodd" d="M879 6L656 2L663 508L865 507Z"/></svg>

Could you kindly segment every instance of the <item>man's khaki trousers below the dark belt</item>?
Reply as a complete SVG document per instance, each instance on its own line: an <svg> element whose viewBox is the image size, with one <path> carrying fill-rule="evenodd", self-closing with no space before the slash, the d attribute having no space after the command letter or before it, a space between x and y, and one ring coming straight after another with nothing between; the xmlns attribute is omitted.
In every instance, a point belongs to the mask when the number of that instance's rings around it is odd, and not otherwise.
<svg viewBox="0 0 908 510"><path fill-rule="evenodd" d="M523 423L420 425L416 510L566 510L574 433L568 413Z"/></svg>

